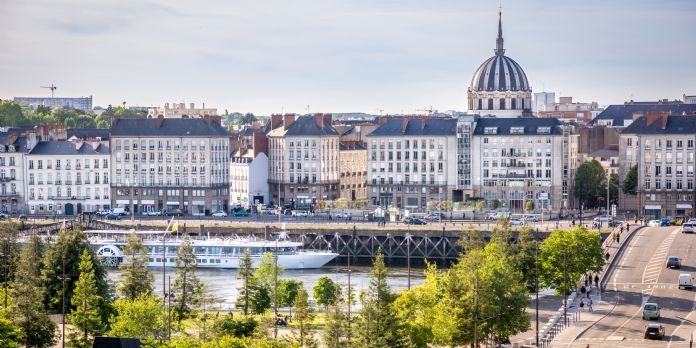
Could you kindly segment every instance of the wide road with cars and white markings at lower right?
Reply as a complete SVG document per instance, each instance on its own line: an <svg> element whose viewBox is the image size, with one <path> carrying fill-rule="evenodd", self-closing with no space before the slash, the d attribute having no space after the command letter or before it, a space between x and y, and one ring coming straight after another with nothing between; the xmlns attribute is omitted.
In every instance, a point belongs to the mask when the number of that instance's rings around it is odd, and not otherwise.
<svg viewBox="0 0 696 348"><path fill-rule="evenodd" d="M613 309L572 347L689 347L696 329L696 291L680 290L680 273L696 274L696 234L682 234L679 227L648 227L636 232L616 267L608 274L603 301ZM668 256L682 259L681 269L665 267ZM658 321L665 328L662 341L643 338L647 321L642 304L661 308ZM655 321L653 321L655 322Z"/></svg>

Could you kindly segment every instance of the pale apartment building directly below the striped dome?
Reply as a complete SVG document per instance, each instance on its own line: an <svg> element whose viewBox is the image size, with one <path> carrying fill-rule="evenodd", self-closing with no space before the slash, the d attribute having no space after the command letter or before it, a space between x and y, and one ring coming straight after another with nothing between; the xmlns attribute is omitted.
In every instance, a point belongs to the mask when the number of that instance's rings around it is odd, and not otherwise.
<svg viewBox="0 0 696 348"><path fill-rule="evenodd" d="M481 118L472 139L472 182L491 206L522 212L527 200L555 213L567 208L569 134L557 119Z"/></svg>

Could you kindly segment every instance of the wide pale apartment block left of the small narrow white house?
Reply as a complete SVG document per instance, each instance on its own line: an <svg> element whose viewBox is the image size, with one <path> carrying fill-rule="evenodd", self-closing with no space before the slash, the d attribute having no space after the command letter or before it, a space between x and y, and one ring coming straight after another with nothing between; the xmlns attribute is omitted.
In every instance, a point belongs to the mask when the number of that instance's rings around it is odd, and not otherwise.
<svg viewBox="0 0 696 348"><path fill-rule="evenodd" d="M227 211L229 135L220 117L115 118L112 205L136 214Z"/></svg>

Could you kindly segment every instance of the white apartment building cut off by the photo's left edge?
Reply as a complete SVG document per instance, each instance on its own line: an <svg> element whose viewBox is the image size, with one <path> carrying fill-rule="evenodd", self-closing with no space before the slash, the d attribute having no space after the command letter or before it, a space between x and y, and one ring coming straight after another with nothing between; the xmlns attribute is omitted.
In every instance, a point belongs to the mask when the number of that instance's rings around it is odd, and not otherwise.
<svg viewBox="0 0 696 348"><path fill-rule="evenodd" d="M22 129L0 131L0 211L25 212L24 154L27 150Z"/></svg>

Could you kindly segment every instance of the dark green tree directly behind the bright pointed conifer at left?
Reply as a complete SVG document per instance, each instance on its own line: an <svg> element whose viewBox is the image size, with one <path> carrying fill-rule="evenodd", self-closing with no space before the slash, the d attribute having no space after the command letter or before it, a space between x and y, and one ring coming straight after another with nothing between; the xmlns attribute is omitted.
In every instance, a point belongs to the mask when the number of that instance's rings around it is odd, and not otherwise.
<svg viewBox="0 0 696 348"><path fill-rule="evenodd" d="M99 313L102 322L107 322L112 314L112 289L109 286L106 268L97 258L87 236L79 229L62 230L55 243L49 244L43 258L41 271L41 288L44 292L44 306L53 313L62 309L63 265L65 264L65 302L72 303L75 282L80 276L80 259L82 252L87 250L94 270L94 277L99 295Z"/></svg>

